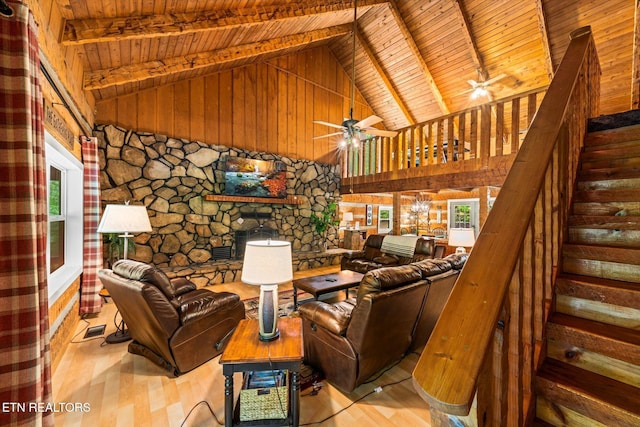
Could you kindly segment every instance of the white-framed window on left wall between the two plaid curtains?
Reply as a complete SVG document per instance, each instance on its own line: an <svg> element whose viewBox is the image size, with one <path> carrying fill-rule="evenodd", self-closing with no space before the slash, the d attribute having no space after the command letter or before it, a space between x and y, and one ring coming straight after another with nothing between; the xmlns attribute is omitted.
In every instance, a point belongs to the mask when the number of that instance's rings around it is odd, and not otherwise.
<svg viewBox="0 0 640 427"><path fill-rule="evenodd" d="M45 132L49 182L47 271L49 304L82 273L82 163Z"/></svg>

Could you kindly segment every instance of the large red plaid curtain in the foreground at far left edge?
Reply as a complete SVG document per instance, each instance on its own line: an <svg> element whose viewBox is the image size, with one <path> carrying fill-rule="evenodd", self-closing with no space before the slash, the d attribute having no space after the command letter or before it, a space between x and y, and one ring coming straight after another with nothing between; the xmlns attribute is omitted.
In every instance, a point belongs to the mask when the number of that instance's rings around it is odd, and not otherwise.
<svg viewBox="0 0 640 427"><path fill-rule="evenodd" d="M38 28L26 5L0 18L0 425L53 425L47 177Z"/></svg>

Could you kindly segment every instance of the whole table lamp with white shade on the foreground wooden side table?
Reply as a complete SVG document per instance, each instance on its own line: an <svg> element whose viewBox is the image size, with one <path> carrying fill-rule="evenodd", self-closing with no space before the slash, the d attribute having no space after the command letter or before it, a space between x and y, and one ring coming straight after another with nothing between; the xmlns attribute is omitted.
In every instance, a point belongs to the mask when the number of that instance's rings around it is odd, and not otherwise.
<svg viewBox="0 0 640 427"><path fill-rule="evenodd" d="M248 241L244 252L244 283L260 285L258 322L260 341L278 338L278 284L293 279L291 243L281 240Z"/></svg>

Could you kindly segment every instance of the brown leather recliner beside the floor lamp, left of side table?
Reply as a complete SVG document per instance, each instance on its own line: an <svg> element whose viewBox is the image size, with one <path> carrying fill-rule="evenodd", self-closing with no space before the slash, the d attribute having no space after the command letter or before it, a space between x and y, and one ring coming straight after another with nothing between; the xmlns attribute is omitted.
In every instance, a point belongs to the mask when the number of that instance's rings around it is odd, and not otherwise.
<svg viewBox="0 0 640 427"><path fill-rule="evenodd" d="M120 260L98 277L127 324L129 352L180 375L217 356L245 317L240 297L169 280L158 268Z"/></svg>

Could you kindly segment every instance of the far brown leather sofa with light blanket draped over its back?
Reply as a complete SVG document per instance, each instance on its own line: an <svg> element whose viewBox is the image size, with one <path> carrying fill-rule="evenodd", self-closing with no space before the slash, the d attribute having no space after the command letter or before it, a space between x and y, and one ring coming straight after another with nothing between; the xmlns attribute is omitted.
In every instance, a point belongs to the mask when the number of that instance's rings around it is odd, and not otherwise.
<svg viewBox="0 0 640 427"><path fill-rule="evenodd" d="M402 257L382 252L384 234L371 234L367 237L364 247L359 251L345 252L340 260L341 270L352 270L366 273L382 267L405 265L424 259L442 258L445 247L436 245L432 238L420 237L416 241L413 257Z"/></svg>

